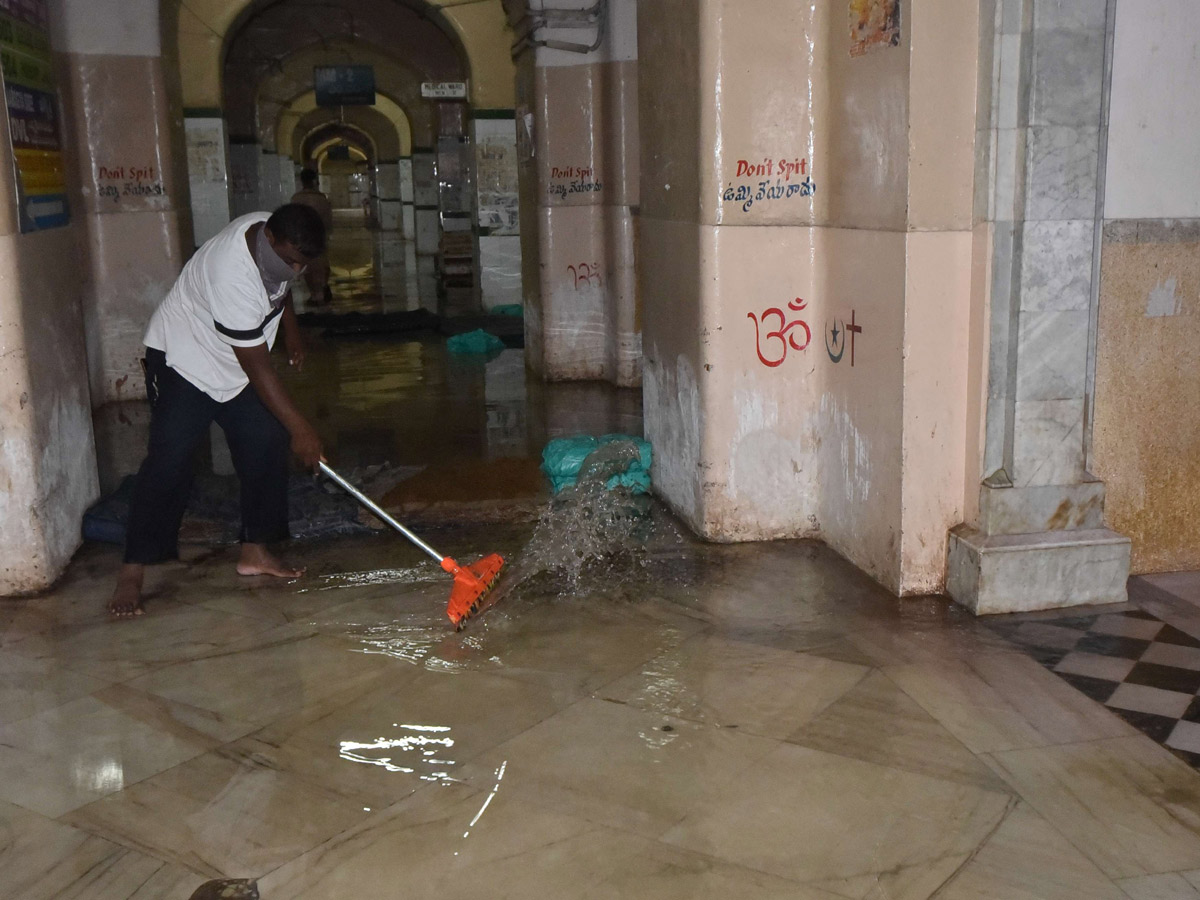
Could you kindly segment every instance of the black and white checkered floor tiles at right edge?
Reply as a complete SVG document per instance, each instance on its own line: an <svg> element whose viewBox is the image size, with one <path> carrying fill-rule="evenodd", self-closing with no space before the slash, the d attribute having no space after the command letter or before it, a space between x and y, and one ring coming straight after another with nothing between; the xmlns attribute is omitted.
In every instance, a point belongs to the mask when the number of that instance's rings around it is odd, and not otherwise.
<svg viewBox="0 0 1200 900"><path fill-rule="evenodd" d="M1200 641L1141 610L989 625L1200 768Z"/></svg>

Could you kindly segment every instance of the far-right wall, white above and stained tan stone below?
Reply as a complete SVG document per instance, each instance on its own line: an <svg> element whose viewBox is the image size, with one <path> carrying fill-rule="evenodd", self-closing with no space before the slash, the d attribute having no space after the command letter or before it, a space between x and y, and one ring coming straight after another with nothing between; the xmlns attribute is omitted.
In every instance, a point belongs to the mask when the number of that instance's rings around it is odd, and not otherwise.
<svg viewBox="0 0 1200 900"><path fill-rule="evenodd" d="M1092 470L1135 572L1200 568L1200 36L1118 0Z"/></svg>

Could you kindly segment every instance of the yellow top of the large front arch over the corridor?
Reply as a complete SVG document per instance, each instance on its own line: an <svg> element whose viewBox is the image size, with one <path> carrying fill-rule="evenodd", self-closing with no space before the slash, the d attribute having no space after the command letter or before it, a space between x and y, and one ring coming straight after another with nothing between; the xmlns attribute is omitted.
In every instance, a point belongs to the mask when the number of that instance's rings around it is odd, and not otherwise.
<svg viewBox="0 0 1200 900"><path fill-rule="evenodd" d="M270 67L298 47L340 36L406 56L436 80L466 79L478 108L511 108L515 70L500 0L162 0L175 28L184 106L223 108L223 66L256 59ZM403 28L400 25L403 24ZM244 26L259 37L236 52ZM420 44L420 46L414 46ZM448 72L439 54L452 49Z"/></svg>

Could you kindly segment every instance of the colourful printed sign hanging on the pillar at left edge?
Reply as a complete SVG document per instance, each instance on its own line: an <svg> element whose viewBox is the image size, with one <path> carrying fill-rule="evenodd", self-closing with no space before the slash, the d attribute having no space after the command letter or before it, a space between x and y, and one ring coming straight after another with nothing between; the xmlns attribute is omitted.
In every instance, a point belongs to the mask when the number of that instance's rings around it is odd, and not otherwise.
<svg viewBox="0 0 1200 900"><path fill-rule="evenodd" d="M22 232L70 218L46 0L0 0L0 71Z"/></svg>

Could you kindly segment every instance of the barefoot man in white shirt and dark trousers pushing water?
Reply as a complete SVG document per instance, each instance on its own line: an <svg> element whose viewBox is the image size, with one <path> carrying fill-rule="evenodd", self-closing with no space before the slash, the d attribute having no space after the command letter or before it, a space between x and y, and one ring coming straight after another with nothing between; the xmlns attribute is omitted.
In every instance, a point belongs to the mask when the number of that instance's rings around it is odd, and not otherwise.
<svg viewBox="0 0 1200 900"><path fill-rule="evenodd" d="M288 449L316 469L320 438L271 365L282 324L288 362L304 365L292 282L325 251L310 206L234 220L184 266L146 329L150 444L138 470L125 564L108 610L140 616L145 566L179 557L196 450L215 421L241 485L239 575L298 577L268 545L288 538Z"/></svg>

